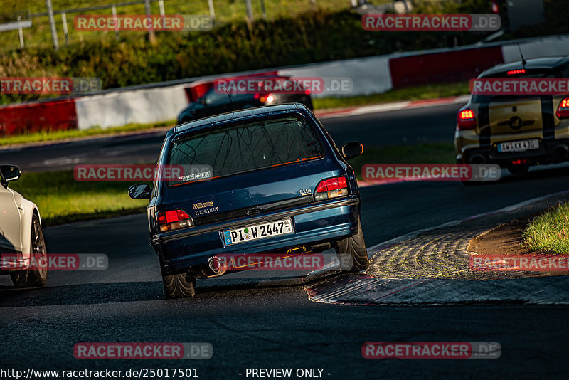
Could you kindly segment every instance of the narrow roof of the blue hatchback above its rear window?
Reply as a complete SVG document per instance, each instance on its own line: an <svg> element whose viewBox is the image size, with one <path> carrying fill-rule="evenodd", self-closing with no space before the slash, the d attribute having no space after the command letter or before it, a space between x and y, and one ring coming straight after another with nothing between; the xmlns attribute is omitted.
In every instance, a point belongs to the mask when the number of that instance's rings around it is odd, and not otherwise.
<svg viewBox="0 0 569 380"><path fill-rule="evenodd" d="M192 122L186 122L182 125L178 125L177 127L172 128L171 131L173 133L185 132L199 127L228 122L230 120L248 119L252 117L266 116L286 111L297 111L301 108L307 109L304 105L299 103L266 105L263 107L247 108L245 110L227 112L220 115L204 117L203 119L195 120Z"/></svg>

